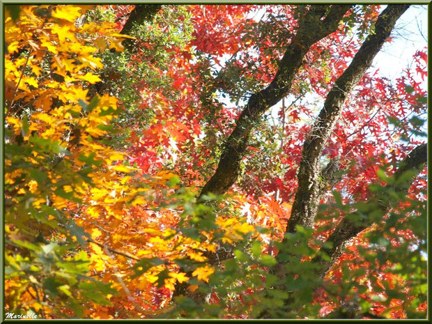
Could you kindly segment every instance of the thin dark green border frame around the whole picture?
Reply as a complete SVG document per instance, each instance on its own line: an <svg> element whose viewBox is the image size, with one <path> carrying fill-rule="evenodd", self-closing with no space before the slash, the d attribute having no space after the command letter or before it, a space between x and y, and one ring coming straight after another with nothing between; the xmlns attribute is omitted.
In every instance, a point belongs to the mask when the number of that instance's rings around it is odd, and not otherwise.
<svg viewBox="0 0 432 324"><path fill-rule="evenodd" d="M95 3L95 1L86 1L86 0L66 0L66 1L52 1L52 0L39 0L39 1L13 1L13 0L0 0L0 16L2 18L2 26L3 26L3 22L4 22L4 6L6 4L19 4L19 5L26 5L26 4L45 4L45 3L68 3L68 4L79 4L79 3ZM183 1L183 0L170 0L170 1L146 1L146 0L141 0L141 1L123 1L123 0L105 0L102 3L97 3L97 4L108 4L108 3L112 3L112 4L137 4L137 3L149 3L149 4L299 4L299 3L323 3L323 4L342 4L342 3L355 3L355 4L397 4L397 3L410 3L410 4L414 4L414 5L427 5L428 6L428 45L429 45L429 35L431 33L431 21L432 21L432 12L431 12L431 2L429 0L416 0L416 1L406 1L406 0L382 0L382 1L365 1L365 0L360 0L360 1L346 1L346 0L333 0L333 1L326 1L326 0L308 0L308 1L298 1L298 0L271 0L271 1L265 1L265 0L217 0L217 1L212 1L212 0L189 0L189 1ZM4 29L2 29L2 32L0 34L0 43L3 44L4 41ZM412 319L412 320L327 320L327 319L319 319L319 320L296 320L296 319L269 319L269 320L261 320L261 319L250 319L250 320L219 320L219 319L208 319L208 320L201 320L201 319L167 319L167 320L159 320L159 319L116 319L116 320L94 320L94 319L53 319L53 320L46 320L46 319L36 319L36 320L5 320L4 318L4 300L5 300L5 291L4 291L4 250L5 250L5 245L4 245L4 226L5 226L5 222L4 222L4 102L5 102L5 97L4 97L4 63L5 63L5 59L4 59L4 45L1 45L1 54L2 54L2 59L1 59L1 63L0 63L0 68L1 68L1 75L3 75L3 77L0 80L0 89L1 89L1 100L2 100L2 104L1 104L1 109L2 109L2 114L1 114L1 129L0 129L0 136L1 136L1 145L0 145L0 155L1 155L1 199L0 199L0 208L1 208L1 213L0 213L0 223L1 223L1 237L0 237L0 246L1 246L1 267L0 267L0 277L1 277L1 282L0 282L0 287L1 287L1 298L0 300L3 300L3 302L1 302L1 306L2 306L2 311L0 313L0 323L3 322L14 322L14 321L20 321L20 323L31 323L33 321L43 321L43 322L62 322L62 321L75 321L75 322L105 322L105 321L121 321L122 323L127 323L127 322L140 322L140 321L149 321L152 323L166 323L166 322L188 322L188 321L193 321L193 322L221 322L221 321L235 321L235 322L246 322L246 321L253 321L253 322L257 322L257 321L270 321L270 322L307 322L307 323L320 323L320 322L324 322L324 323L330 323L330 322L339 322L339 323L402 323L402 322L407 322L407 321L412 321L415 323L432 323L431 321L431 315L432 315L432 310L431 310L431 305L429 304L430 301L430 290L428 289L428 298L427 298L427 303L428 303L428 310L427 310L427 319ZM429 53L428 53L429 54ZM431 56L428 56L428 68L431 65ZM428 69L429 70L429 69ZM431 92L431 82L429 82L428 79L428 93ZM429 98L429 95L428 95ZM430 99L428 100L428 105L430 104ZM430 160L431 157L431 150L429 147L429 129L431 128L431 121L429 121L429 109L428 109L428 161ZM428 173L430 171L429 168L429 164L428 164ZM428 196L429 196L429 181L428 181ZM428 199L428 210L429 210L429 199ZM428 213L429 215L429 213ZM430 229L431 229L431 222L430 219L428 219L428 252L430 251L430 247L431 247L431 242L429 240L429 233L430 233ZM429 256L429 254L428 254ZM429 277L431 277L431 268L429 267L429 263L428 263L428 275ZM428 288L430 287L430 282L428 280Z"/></svg>

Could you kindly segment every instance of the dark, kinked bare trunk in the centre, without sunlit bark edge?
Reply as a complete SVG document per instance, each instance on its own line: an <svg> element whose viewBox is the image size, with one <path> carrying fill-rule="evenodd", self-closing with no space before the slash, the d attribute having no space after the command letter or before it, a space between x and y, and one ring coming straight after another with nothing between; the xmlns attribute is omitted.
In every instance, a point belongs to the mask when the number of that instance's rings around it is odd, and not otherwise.
<svg viewBox="0 0 432 324"><path fill-rule="evenodd" d="M254 93L249 98L249 102L236 122L236 128L226 140L215 174L204 185L200 196L208 192L223 194L237 180L240 161L245 155L254 123L288 93L295 73L300 68L309 47L335 31L349 8L348 5L311 6L308 13L300 20L298 32L279 62L279 70L275 78L267 88Z"/></svg>

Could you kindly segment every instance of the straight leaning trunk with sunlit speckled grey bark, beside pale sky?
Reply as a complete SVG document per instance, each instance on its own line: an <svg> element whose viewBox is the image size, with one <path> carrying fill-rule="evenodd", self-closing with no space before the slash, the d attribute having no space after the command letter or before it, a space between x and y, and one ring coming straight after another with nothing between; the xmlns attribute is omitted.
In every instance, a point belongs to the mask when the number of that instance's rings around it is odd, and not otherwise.
<svg viewBox="0 0 432 324"><path fill-rule="evenodd" d="M286 230L288 233L293 233L297 225L313 226L320 200L318 177L321 173L320 158L325 143L339 119L348 93L353 90L364 72L371 66L373 58L390 36L396 20L408 7L409 5L387 6L376 21L375 33L367 37L349 67L337 79L332 90L328 93L324 107L311 129L311 134L304 141L302 161L298 172L298 190L295 194L293 210Z"/></svg>

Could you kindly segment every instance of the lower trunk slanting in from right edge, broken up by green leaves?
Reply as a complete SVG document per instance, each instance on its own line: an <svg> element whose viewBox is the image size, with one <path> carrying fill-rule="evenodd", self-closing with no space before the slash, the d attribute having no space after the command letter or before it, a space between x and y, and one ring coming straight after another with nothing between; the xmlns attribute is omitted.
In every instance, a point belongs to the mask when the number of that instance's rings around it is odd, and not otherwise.
<svg viewBox="0 0 432 324"><path fill-rule="evenodd" d="M415 174L412 175L412 180L420 173L424 167L424 164L427 162L427 144L422 144L417 146L414 150L412 150L406 158L401 162L399 169L394 173L394 180L397 180L403 173L408 170L416 171ZM389 187L396 190L397 192L403 192L407 190L407 186L410 185L412 181L407 181L406 185L392 185L389 184ZM389 205L378 205L381 207L383 213L387 213L389 209ZM313 261L321 263L322 268L320 270L320 275L322 277L332 268L332 265L339 259L339 256L344 252L344 248L346 243L351 239L357 236L358 233L367 229L373 223L370 219L361 219L357 222L353 221L353 219L344 218L336 227L334 232L327 239L328 243L331 243L332 248L322 248L321 252L325 252L328 256L330 256L330 260L324 261L321 256L316 256Z"/></svg>

